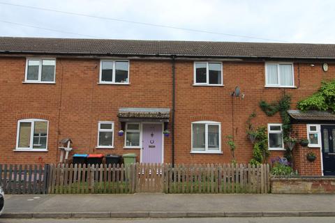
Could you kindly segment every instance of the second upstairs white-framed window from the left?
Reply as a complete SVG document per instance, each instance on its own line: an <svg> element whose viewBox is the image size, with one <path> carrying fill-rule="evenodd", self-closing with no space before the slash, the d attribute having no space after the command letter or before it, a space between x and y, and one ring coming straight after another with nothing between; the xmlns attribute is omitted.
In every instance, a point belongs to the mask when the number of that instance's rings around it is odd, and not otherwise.
<svg viewBox="0 0 335 223"><path fill-rule="evenodd" d="M129 84L129 61L101 60L99 84Z"/></svg>

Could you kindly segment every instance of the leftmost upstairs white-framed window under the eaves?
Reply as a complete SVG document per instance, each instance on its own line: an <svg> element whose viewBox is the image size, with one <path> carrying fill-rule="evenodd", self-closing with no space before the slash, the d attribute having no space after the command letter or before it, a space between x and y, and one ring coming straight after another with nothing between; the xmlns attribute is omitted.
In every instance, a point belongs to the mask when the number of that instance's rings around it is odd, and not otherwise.
<svg viewBox="0 0 335 223"><path fill-rule="evenodd" d="M28 58L24 83L54 84L56 74L56 59Z"/></svg>

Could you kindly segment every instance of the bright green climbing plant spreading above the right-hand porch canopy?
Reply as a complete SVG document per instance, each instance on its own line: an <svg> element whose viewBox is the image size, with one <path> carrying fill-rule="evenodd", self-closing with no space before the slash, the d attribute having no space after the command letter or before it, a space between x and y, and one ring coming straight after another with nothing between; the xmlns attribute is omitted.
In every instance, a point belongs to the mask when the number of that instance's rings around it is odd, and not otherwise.
<svg viewBox="0 0 335 223"><path fill-rule="evenodd" d="M322 82L316 93L298 102L297 108L301 111L328 110L335 113L335 79L330 82Z"/></svg>

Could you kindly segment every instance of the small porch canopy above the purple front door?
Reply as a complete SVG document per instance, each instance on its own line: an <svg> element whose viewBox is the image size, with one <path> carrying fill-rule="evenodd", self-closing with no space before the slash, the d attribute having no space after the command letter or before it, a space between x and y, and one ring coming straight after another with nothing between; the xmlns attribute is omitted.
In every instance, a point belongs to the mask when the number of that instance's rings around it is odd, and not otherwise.
<svg viewBox="0 0 335 223"><path fill-rule="evenodd" d="M170 118L169 108L147 107L121 107L117 114L119 121L124 122L160 122L168 123Z"/></svg>

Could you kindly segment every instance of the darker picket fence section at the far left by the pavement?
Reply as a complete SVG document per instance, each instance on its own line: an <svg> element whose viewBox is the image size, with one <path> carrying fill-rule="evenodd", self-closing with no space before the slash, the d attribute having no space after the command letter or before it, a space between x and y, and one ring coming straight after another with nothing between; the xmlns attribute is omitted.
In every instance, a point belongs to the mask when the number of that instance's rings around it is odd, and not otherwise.
<svg viewBox="0 0 335 223"><path fill-rule="evenodd" d="M46 194L48 165L0 164L5 194Z"/></svg>

